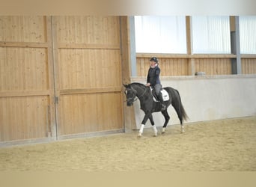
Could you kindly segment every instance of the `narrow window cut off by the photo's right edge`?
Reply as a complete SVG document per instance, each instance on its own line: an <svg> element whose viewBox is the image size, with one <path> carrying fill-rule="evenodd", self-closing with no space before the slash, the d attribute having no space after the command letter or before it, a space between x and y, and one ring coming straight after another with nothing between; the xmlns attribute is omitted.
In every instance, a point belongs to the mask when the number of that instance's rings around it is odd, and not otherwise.
<svg viewBox="0 0 256 187"><path fill-rule="evenodd" d="M256 54L256 16L240 16L240 52Z"/></svg>

